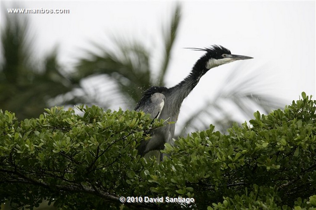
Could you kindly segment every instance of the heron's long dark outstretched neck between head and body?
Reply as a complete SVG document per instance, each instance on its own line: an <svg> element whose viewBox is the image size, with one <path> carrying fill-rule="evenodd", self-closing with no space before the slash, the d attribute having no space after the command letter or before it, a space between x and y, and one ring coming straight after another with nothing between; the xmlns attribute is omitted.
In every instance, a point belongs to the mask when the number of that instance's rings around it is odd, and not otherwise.
<svg viewBox="0 0 316 210"><path fill-rule="evenodd" d="M193 88L200 81L200 78L208 70L209 69L206 68L206 60L203 57L197 60L190 74L179 84L171 88L172 91L175 92L174 102L179 102L179 106L181 106L182 101L190 94Z"/></svg>

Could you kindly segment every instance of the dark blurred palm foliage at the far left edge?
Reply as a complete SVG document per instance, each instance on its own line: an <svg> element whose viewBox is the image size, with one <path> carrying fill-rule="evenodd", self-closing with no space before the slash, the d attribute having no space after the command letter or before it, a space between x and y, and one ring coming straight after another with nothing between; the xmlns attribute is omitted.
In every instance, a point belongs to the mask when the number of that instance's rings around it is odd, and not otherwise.
<svg viewBox="0 0 316 210"><path fill-rule="evenodd" d="M28 21L18 17L7 16L1 31L0 108L24 119L39 116L48 99L72 87L58 65L57 50L44 59L44 65L33 59Z"/></svg>

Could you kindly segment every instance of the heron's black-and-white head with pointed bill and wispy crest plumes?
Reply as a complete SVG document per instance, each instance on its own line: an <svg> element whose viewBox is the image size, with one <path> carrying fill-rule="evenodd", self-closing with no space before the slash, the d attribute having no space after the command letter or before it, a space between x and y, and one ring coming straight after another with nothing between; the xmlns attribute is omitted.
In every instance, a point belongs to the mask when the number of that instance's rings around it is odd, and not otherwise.
<svg viewBox="0 0 316 210"><path fill-rule="evenodd" d="M205 51L206 53L200 58L203 61L207 70L219 65L233 62L235 60L252 59L252 57L244 55L231 54L230 50L221 45L213 45L210 48L189 48L198 51Z"/></svg>

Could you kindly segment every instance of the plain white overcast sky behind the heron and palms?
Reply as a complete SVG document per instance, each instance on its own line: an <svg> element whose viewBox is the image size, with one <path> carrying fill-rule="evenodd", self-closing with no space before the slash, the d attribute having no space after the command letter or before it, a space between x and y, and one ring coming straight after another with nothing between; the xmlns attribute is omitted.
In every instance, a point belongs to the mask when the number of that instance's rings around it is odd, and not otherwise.
<svg viewBox="0 0 316 210"><path fill-rule="evenodd" d="M8 8L70 9L70 14L20 14L30 19L36 35L34 49L41 57L59 44L59 58L71 69L89 41L108 46L115 34L143 40L159 65L161 28L175 1L1 1L1 26ZM210 70L185 99L179 121L211 99L228 74L260 71L261 93L289 104L302 91L316 95L315 1L181 1L182 22L165 81L180 82L203 54L184 49L220 44L232 54L254 57ZM14 14L12 14L14 15ZM4 23L5 24L5 23ZM117 107L112 107L116 109Z"/></svg>

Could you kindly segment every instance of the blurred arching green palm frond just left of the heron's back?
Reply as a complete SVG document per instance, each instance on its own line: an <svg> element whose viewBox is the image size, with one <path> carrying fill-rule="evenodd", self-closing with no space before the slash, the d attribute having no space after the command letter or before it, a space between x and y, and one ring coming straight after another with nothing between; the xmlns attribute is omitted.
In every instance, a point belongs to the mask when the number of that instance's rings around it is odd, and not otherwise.
<svg viewBox="0 0 316 210"><path fill-rule="evenodd" d="M93 74L106 74L117 82L119 92L132 103L141 98L139 87L150 87L149 52L142 44L121 41L116 50L103 49L100 55L88 51L87 54L89 58L81 59L77 65L75 81Z"/></svg>

